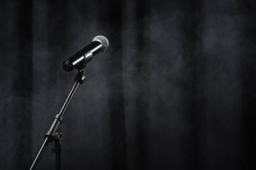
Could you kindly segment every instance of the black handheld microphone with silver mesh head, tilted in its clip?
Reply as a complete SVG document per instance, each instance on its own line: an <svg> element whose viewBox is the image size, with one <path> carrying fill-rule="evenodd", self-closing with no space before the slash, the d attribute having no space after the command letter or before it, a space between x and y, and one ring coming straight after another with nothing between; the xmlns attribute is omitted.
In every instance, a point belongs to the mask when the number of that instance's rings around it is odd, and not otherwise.
<svg viewBox="0 0 256 170"><path fill-rule="evenodd" d="M63 62L63 69L65 71L72 71L77 69L82 71L86 64L92 60L92 57L99 52L104 52L108 48L108 39L104 36L96 36L92 42L79 50L73 56L70 56Z"/></svg>

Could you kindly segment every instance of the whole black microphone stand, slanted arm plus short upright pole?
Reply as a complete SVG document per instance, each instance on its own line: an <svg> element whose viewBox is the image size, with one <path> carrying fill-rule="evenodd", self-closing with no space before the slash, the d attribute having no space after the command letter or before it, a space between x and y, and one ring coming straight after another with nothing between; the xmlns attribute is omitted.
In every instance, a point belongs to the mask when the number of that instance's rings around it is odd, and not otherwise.
<svg viewBox="0 0 256 170"><path fill-rule="evenodd" d="M63 104L63 107L61 108L61 111L59 114L55 116L53 119L53 124L51 125L51 128L48 130L48 132L44 135L44 142L42 143L42 146L40 150L38 151L38 154L36 155L36 158L34 159L34 162L32 163L30 170L36 169L36 166L38 165L42 155L44 154L44 151L46 150L46 147L48 146L49 142L55 141L55 148L53 148L53 152L55 153L55 159L56 159L56 169L61 169L61 138L62 133L57 132L59 129L59 126L61 125L61 122L63 121L63 115L65 110L67 109L67 106L69 105L69 102L71 101L73 94L77 90L78 85L81 85L84 82L84 79L86 79L86 73L84 72L84 69L82 71L79 71L79 73L75 76L75 84L73 85L69 95L67 96L67 99L65 103Z"/></svg>

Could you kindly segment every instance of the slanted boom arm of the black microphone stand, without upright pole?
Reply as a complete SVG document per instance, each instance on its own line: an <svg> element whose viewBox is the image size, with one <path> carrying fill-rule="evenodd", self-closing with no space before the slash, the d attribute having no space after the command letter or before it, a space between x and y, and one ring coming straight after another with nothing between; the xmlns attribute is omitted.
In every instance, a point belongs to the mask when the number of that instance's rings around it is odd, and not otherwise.
<svg viewBox="0 0 256 170"><path fill-rule="evenodd" d="M59 114L57 114L55 116L55 118L53 120L53 124L51 125L51 128L44 135L44 138L45 138L44 142L42 143L42 146L41 146L40 150L38 151L38 154L36 155L36 158L34 159L34 162L32 163L32 165L30 167L30 170L36 169L36 166L38 165L42 155L44 154L44 151L46 150L46 147L48 146L49 142L53 142L55 133L58 130L61 122L63 121L64 112L67 109L67 106L69 105L69 102L71 101L71 99L73 97L73 94L77 90L78 85L82 84L85 78L86 78L86 73L84 73L84 71L79 72L77 74L77 76L75 77L75 84L73 85L69 95L67 96L67 99L66 99L65 103L63 104L63 107L61 108L61 111L59 112ZM57 156L56 156L56 158L57 158Z"/></svg>

